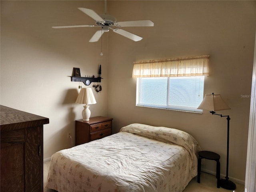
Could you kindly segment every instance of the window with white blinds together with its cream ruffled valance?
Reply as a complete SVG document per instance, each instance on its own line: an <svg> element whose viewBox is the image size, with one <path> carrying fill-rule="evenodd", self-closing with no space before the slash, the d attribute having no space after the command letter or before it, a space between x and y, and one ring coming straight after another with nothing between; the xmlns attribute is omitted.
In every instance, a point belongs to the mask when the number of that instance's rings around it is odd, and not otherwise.
<svg viewBox="0 0 256 192"><path fill-rule="evenodd" d="M134 62L136 106L202 112L209 55Z"/></svg>

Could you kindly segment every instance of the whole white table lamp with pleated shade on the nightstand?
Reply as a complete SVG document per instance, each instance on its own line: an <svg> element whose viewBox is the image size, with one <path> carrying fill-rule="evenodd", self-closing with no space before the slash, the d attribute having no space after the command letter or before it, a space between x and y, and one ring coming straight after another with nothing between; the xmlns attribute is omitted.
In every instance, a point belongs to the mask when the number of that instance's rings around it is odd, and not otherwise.
<svg viewBox="0 0 256 192"><path fill-rule="evenodd" d="M91 111L89 110L88 104L96 104L92 88L81 88L76 103L85 104L84 110L82 110L82 116L84 121L89 121Z"/></svg>

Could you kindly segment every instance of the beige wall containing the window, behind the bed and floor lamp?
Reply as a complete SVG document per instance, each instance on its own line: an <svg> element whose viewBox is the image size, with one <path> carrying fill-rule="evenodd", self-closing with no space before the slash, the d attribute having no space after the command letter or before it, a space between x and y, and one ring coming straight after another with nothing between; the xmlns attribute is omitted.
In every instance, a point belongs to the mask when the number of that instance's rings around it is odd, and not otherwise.
<svg viewBox="0 0 256 192"><path fill-rule="evenodd" d="M116 131L130 123L145 123L184 130L194 136L203 150L221 156L226 174L227 120L203 114L136 107L134 61L210 55L210 76L205 94L221 94L232 108L230 115L229 176L245 179L248 120L256 29L256 1L111 1L110 11L118 20L150 19L152 28L126 28L142 36L132 42L110 35L108 57L108 115ZM118 42L118 44L117 44ZM206 161L204 169L214 171Z"/></svg>

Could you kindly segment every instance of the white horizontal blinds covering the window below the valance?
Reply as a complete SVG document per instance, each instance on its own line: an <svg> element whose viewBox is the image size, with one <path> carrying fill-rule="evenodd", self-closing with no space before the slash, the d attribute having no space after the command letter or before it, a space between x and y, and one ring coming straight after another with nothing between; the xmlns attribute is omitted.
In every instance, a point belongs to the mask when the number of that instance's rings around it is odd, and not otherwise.
<svg viewBox="0 0 256 192"><path fill-rule="evenodd" d="M191 112L204 97L204 76L137 78L136 106Z"/></svg>

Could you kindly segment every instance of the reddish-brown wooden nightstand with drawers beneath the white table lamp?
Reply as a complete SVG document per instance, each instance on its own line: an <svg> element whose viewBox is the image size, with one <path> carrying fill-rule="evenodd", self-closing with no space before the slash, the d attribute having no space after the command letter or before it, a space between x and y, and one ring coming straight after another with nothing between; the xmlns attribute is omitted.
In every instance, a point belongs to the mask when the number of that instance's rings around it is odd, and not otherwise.
<svg viewBox="0 0 256 192"><path fill-rule="evenodd" d="M112 120L102 116L92 117L89 121L76 120L76 145L111 135Z"/></svg>

